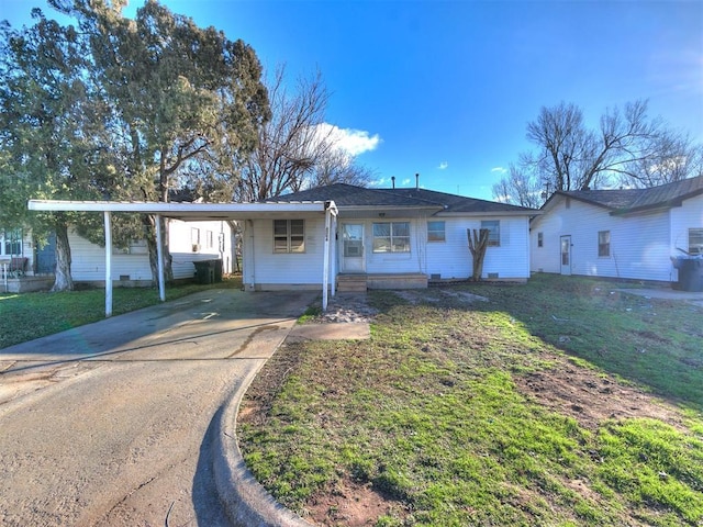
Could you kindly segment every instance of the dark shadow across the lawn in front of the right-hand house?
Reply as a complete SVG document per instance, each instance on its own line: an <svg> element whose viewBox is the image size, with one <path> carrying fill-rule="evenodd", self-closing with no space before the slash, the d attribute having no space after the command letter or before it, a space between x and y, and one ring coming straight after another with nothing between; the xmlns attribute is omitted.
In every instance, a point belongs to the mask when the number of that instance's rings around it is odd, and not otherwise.
<svg viewBox="0 0 703 527"><path fill-rule="evenodd" d="M432 288L422 302L506 313L569 356L703 411L703 309L621 293L618 287L579 277L536 276L526 284L465 282ZM467 302L467 296L457 294L462 292L488 301ZM403 300L408 302L408 296ZM389 302L388 296L375 299L381 310Z"/></svg>

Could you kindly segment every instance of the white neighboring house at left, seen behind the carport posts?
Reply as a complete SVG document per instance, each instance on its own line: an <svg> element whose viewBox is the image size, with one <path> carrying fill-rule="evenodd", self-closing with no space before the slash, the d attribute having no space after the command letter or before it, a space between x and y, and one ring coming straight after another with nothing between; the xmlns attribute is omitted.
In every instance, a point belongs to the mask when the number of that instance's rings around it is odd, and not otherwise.
<svg viewBox="0 0 703 527"><path fill-rule="evenodd" d="M236 246L234 224L227 221L168 222L169 251L174 278L190 279L196 273L193 261L222 260L222 270L235 268L233 247ZM103 285L105 280L104 248L69 231L71 278L75 282ZM0 229L0 290L26 292L52 287L54 278L55 238L40 247L30 229ZM7 269L7 281L2 262ZM148 285L152 283L146 240L134 240L127 248L114 248L112 280L120 285Z"/></svg>

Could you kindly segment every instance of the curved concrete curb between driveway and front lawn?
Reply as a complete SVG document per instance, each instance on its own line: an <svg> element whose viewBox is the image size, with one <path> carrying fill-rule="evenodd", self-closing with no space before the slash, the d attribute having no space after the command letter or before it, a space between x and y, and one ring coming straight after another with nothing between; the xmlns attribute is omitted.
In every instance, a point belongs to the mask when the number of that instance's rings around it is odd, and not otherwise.
<svg viewBox="0 0 703 527"><path fill-rule="evenodd" d="M213 437L215 489L230 520L236 527L311 527L259 484L247 469L236 436L242 396L264 366L252 368L242 384L220 408Z"/></svg>

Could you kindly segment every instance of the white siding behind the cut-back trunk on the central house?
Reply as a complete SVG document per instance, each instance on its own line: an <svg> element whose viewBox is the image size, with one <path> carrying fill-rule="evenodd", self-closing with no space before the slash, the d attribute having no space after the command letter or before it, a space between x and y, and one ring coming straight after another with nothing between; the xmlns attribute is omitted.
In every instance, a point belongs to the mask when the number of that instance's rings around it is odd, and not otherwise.
<svg viewBox="0 0 703 527"><path fill-rule="evenodd" d="M481 278L525 280L529 277L529 227L526 216L490 217L500 221L500 246L488 247ZM426 243L427 274L440 279L467 279L472 273L467 229L481 228L481 218L440 217L445 242ZM426 234L425 234L426 239Z"/></svg>

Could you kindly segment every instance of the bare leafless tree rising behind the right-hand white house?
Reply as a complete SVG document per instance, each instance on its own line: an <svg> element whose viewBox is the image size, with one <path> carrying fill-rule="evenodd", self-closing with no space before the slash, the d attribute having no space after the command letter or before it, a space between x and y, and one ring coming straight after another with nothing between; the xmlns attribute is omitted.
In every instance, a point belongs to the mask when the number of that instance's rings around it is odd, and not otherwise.
<svg viewBox="0 0 703 527"><path fill-rule="evenodd" d="M494 197L524 206L535 206L537 189L651 187L699 175L703 166L703 147L650 119L647 101L606 109L596 130L585 126L576 104L543 106L527 138L537 150L522 154L518 168L493 187Z"/></svg>

